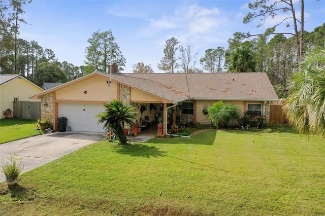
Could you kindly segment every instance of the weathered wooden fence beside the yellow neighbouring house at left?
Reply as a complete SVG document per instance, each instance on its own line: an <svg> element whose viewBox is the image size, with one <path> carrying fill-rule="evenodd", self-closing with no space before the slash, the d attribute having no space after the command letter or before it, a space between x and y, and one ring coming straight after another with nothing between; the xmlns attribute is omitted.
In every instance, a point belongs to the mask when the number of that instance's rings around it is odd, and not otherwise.
<svg viewBox="0 0 325 216"><path fill-rule="evenodd" d="M14 117L18 119L41 119L40 101L14 101Z"/></svg>

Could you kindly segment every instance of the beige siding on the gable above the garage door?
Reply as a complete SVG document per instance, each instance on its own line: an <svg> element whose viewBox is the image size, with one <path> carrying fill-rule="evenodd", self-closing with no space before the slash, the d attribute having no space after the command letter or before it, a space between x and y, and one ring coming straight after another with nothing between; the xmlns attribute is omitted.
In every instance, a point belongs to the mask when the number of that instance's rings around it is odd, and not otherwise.
<svg viewBox="0 0 325 216"><path fill-rule="evenodd" d="M56 91L56 100L67 101L110 101L108 79L95 76ZM112 99L117 98L117 84L112 81ZM84 91L87 91L85 94Z"/></svg>

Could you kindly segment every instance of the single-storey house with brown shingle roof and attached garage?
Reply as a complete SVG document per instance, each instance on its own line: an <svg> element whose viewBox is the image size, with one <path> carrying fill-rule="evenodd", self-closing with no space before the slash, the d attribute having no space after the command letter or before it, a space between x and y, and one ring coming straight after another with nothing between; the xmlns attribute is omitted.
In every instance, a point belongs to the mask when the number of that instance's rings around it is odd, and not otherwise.
<svg viewBox="0 0 325 216"><path fill-rule="evenodd" d="M110 81L111 78L111 81ZM181 104L181 122L211 124L204 107L223 100L233 103L244 112L268 116L269 101L279 100L266 73L225 74L106 74L94 72L58 87L30 97L42 99L42 118L50 119L57 129L59 117L68 118L72 131L103 132L94 116L105 110L103 102L119 99L131 103L141 123L145 116L155 120L160 114L167 120L167 109ZM47 107L43 107L43 103ZM157 107L149 110L150 104ZM141 114L141 105L147 110ZM173 106L173 107L172 107ZM174 118L176 119L174 112ZM167 125L164 125L164 133Z"/></svg>

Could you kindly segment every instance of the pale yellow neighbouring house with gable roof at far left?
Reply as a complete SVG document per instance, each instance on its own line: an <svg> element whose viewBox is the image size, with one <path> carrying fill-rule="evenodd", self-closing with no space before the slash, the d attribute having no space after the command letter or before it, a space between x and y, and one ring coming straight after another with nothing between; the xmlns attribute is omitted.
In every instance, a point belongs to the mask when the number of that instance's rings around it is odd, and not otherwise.
<svg viewBox="0 0 325 216"><path fill-rule="evenodd" d="M2 113L7 109L13 111L15 100L40 101L40 99L29 99L29 96L43 91L44 89L22 75L0 75L0 111ZM2 115L1 118L3 117Z"/></svg>

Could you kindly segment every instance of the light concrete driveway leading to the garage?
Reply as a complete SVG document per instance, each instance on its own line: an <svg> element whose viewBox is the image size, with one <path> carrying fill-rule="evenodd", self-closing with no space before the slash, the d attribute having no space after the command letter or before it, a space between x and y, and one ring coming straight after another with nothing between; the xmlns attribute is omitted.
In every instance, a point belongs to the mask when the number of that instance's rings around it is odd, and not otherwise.
<svg viewBox="0 0 325 216"><path fill-rule="evenodd" d="M103 139L103 133L75 131L33 136L0 145L0 160L16 154L22 158L23 173ZM6 177L0 167L0 182L4 181Z"/></svg>

